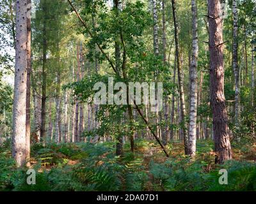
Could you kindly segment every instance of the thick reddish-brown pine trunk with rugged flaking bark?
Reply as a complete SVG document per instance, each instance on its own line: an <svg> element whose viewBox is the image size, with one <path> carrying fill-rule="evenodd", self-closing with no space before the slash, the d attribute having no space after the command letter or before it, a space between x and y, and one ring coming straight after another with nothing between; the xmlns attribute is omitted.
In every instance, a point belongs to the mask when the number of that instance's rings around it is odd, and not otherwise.
<svg viewBox="0 0 256 204"><path fill-rule="evenodd" d="M224 44L220 11L220 0L208 0L211 107L216 163L232 159L224 96Z"/></svg>

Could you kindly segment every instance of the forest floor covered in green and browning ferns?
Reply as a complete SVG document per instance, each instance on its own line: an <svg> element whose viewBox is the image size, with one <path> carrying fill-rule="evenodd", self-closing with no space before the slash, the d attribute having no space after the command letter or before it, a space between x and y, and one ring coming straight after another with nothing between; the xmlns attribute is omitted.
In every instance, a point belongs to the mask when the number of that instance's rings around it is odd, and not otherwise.
<svg viewBox="0 0 256 204"><path fill-rule="evenodd" d="M182 142L169 143L164 156L154 141L129 143L124 156L115 156L115 143L36 143L31 166L36 185L26 184L26 168L16 169L10 143L0 147L0 191L255 191L256 143L233 143L232 161L214 163L213 142L199 140L195 161L184 155ZM219 170L228 171L228 185L220 185Z"/></svg>

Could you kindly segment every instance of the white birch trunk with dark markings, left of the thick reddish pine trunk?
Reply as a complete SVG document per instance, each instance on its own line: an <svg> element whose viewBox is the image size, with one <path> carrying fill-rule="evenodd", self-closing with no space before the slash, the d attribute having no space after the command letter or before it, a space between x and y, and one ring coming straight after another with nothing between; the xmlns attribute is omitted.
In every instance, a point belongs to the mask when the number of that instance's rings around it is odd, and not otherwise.
<svg viewBox="0 0 256 204"><path fill-rule="evenodd" d="M190 68L190 113L188 154L196 154L196 117L197 117L197 58L198 58L198 33L197 33L197 6L196 0L191 0L192 7L192 60Z"/></svg>

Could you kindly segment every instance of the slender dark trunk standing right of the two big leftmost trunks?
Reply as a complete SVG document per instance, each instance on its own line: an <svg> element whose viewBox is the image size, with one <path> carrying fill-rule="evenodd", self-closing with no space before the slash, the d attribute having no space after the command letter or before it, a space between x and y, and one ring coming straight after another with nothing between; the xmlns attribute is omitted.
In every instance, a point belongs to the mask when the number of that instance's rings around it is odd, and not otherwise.
<svg viewBox="0 0 256 204"><path fill-rule="evenodd" d="M43 12L46 17L47 13L45 11L46 3L43 3ZM42 102L41 102L41 133L40 140L45 143L45 117L46 117L46 89L47 89L47 80L46 80L46 57L47 57L47 39L46 39L46 22L45 18L43 20L43 68L42 68Z"/></svg>

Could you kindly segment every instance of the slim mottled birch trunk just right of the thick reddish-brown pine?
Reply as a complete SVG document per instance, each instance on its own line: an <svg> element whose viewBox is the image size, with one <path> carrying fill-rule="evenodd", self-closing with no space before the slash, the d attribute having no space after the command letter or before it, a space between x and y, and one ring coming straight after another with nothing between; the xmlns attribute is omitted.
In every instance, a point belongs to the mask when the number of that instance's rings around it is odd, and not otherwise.
<svg viewBox="0 0 256 204"><path fill-rule="evenodd" d="M235 78L235 124L236 128L239 128L240 122L240 89L239 89L239 66L237 58L238 48L238 11L237 11L237 0L233 0L232 4L232 15L233 15L233 71Z"/></svg>

